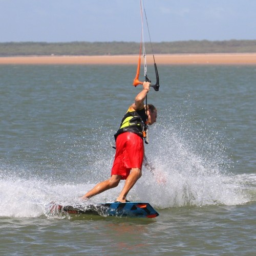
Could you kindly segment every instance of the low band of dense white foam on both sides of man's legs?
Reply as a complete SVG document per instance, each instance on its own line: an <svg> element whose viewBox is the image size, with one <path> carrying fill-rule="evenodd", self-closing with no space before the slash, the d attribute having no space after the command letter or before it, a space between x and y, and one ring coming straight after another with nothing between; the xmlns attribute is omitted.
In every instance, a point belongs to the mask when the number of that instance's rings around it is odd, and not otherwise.
<svg viewBox="0 0 256 256"><path fill-rule="evenodd" d="M143 177L130 191L129 200L147 201L157 208L169 208L187 205L238 205L256 199L255 174L190 176L186 172L177 173L171 167L158 168L158 172L153 176L144 171ZM79 197L93 186L94 184L52 184L38 179L0 179L0 216L49 218L47 205L51 201L55 200L61 205L80 203ZM122 186L121 182L117 188L94 197L93 201L114 201ZM56 218L55 211L52 217Z"/></svg>

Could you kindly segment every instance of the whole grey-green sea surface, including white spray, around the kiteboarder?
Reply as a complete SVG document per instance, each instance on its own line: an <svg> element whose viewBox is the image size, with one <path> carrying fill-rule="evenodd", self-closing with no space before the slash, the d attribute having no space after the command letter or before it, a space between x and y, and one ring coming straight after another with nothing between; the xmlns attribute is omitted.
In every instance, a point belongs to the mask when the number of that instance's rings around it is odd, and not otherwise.
<svg viewBox="0 0 256 256"><path fill-rule="evenodd" d="M0 66L1 255L255 255L256 66L158 69L156 173L127 197L157 209L145 220L47 211L110 177L136 66Z"/></svg>

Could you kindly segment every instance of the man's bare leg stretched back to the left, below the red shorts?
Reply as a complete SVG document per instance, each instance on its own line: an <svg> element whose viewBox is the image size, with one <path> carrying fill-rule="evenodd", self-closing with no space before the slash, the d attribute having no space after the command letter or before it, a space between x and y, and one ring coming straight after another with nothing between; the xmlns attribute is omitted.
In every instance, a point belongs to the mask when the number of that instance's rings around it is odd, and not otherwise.
<svg viewBox="0 0 256 256"><path fill-rule="evenodd" d="M96 196L105 190L118 186L121 180L120 175L112 175L109 180L98 183L93 189L91 189L86 195L82 196L81 199L89 199L90 197Z"/></svg>

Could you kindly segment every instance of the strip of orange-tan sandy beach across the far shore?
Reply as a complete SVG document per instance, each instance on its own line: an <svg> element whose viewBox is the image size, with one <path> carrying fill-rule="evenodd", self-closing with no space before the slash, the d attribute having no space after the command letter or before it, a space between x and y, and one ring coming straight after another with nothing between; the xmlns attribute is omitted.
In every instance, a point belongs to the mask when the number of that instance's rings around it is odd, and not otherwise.
<svg viewBox="0 0 256 256"><path fill-rule="evenodd" d="M256 53L156 54L158 65L256 65ZM138 55L0 57L0 65L134 65ZM147 56L147 63L153 57Z"/></svg>

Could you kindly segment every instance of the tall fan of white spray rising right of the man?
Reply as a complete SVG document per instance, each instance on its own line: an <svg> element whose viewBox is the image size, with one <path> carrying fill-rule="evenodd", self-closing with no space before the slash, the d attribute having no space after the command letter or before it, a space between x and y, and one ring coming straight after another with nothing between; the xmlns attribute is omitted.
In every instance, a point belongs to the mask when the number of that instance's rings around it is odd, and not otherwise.
<svg viewBox="0 0 256 256"><path fill-rule="evenodd" d="M206 123L200 123L200 130L188 120L156 125L151 130L157 135L152 136L146 154L155 175L144 168L145 177L137 189L140 198L160 208L236 205L251 200L238 176L228 172L231 161Z"/></svg>

